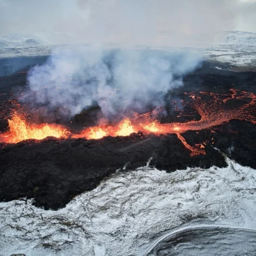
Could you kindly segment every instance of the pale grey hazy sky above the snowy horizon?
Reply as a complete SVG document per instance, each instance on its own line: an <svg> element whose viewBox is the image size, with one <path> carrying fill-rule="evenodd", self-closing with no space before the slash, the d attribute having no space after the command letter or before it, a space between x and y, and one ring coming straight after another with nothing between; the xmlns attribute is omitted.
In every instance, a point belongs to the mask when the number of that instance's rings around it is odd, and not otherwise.
<svg viewBox="0 0 256 256"><path fill-rule="evenodd" d="M256 32L254 0L0 0L0 35L54 31L81 38Z"/></svg>

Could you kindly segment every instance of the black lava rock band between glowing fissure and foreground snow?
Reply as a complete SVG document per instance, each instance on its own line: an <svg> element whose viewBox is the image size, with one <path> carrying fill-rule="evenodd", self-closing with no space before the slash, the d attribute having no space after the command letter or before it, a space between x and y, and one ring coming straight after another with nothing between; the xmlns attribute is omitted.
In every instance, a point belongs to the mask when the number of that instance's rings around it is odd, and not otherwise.
<svg viewBox="0 0 256 256"><path fill-rule="evenodd" d="M167 172L187 167L225 167L223 151L239 163L256 168L254 125L231 121L215 130L184 133L191 145L209 141L206 154L193 157L175 134L145 136L139 132L98 140L46 138L3 145L0 200L34 198L36 206L56 210L77 194L94 189L117 169L123 172L143 167L150 158L150 166Z"/></svg>

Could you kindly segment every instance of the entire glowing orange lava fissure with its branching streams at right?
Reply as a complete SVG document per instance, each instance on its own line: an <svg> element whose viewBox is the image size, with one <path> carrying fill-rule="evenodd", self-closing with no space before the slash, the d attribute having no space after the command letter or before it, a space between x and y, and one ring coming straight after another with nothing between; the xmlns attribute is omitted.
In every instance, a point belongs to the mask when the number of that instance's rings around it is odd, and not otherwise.
<svg viewBox="0 0 256 256"><path fill-rule="evenodd" d="M185 93L191 99L193 108L200 114L198 121L188 121L187 123L167 123L161 124L152 116L159 113L153 111L142 115L135 114L133 118L125 118L118 124L108 124L86 128L79 133L72 133L64 126L56 124L33 124L29 123L25 116L14 112L8 120L9 131L0 134L0 142L17 143L24 139L43 139L48 136L63 138L87 138L100 139L104 136L128 136L133 132L142 131L145 134L155 135L174 133L182 144L191 151L191 156L205 154L205 145L189 145L181 135L188 130L203 130L221 125L233 119L241 119L256 124L256 95L253 93L230 90L229 94L214 94L210 92ZM207 100L205 100L205 98ZM230 107L232 107L230 109Z"/></svg>

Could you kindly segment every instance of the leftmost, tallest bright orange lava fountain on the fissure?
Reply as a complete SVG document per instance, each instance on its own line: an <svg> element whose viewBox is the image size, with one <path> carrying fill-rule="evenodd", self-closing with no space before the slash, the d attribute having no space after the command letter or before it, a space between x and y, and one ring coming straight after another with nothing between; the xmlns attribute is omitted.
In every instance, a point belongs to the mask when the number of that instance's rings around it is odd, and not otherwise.
<svg viewBox="0 0 256 256"><path fill-rule="evenodd" d="M14 112L8 120L10 130L0 135L0 141L17 143L25 139L44 139L48 136L56 138L68 137L68 130L56 124L29 124L26 118Z"/></svg>

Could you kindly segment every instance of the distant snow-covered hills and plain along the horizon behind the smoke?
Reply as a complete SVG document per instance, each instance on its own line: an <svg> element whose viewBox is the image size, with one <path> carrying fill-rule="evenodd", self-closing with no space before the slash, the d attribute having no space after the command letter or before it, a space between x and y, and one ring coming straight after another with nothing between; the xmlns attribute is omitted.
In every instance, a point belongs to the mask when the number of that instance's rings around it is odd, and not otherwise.
<svg viewBox="0 0 256 256"><path fill-rule="evenodd" d="M179 35L180 38L181 35ZM202 40L200 40L202 38ZM163 40L163 46L161 42ZM102 47L147 47L147 48L174 48L170 46L175 41L172 35L159 35L153 44L124 45L124 44L102 44ZM180 41L180 39L178 40ZM181 51L197 52L204 58L216 62L230 63L236 66L256 66L256 33L248 32L221 32L214 36L193 35L182 37L182 46L175 48ZM54 32L38 32L34 35L10 34L0 38L0 58L16 56L46 56L53 50L62 50L65 47L77 47L85 44L74 35L60 34ZM168 46L168 43L170 45Z"/></svg>

